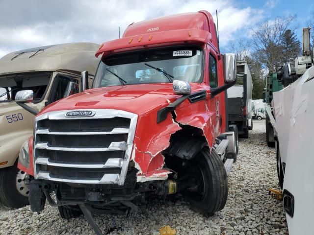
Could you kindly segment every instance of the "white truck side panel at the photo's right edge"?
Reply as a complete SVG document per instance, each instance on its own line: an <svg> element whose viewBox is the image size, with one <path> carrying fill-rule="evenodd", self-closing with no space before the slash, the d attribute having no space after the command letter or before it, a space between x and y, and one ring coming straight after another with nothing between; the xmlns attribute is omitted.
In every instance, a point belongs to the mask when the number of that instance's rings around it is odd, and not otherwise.
<svg viewBox="0 0 314 235"><path fill-rule="evenodd" d="M281 157L285 154L287 159L283 189L294 196L294 215L286 213L290 235L313 234L314 79L309 80L313 77L311 67L290 88L274 96Z"/></svg>

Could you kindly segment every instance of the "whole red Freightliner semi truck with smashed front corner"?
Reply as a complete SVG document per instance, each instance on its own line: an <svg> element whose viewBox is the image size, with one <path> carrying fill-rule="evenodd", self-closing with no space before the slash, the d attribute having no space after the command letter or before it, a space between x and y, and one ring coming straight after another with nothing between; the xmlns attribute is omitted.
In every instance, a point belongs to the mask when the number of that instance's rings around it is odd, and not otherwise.
<svg viewBox="0 0 314 235"><path fill-rule="evenodd" d="M210 13L130 24L96 56L93 88L43 109L21 149L31 210L47 200L63 218L83 212L98 234L91 212L136 210L153 194L180 192L197 211L222 210L238 148L226 115L236 64L219 52Z"/></svg>

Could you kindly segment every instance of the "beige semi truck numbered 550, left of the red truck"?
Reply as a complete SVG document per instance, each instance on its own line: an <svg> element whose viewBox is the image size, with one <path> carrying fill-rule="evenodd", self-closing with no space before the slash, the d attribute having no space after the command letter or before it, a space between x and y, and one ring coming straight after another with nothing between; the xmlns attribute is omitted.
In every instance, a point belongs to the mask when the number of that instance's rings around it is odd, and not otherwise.
<svg viewBox="0 0 314 235"><path fill-rule="evenodd" d="M0 200L20 208L28 204L29 175L17 168L21 145L33 134L38 111L78 92L81 71L93 74L99 64L93 43L28 48L0 59ZM33 102L16 103L17 93L31 91ZM29 113L26 109L31 111Z"/></svg>

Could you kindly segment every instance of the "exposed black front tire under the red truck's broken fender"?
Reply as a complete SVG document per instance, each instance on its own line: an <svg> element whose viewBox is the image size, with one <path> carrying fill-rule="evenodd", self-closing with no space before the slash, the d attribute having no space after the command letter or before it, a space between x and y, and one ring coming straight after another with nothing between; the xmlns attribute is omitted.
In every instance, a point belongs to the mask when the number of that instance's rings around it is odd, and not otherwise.
<svg viewBox="0 0 314 235"><path fill-rule="evenodd" d="M201 192L187 195L192 209L205 215L212 215L213 212L221 211L227 201L228 178L220 157L214 150L210 154L209 148L204 147L190 161L191 165L199 170L199 176L201 176L199 179L203 182L201 183L203 188L199 187Z"/></svg>

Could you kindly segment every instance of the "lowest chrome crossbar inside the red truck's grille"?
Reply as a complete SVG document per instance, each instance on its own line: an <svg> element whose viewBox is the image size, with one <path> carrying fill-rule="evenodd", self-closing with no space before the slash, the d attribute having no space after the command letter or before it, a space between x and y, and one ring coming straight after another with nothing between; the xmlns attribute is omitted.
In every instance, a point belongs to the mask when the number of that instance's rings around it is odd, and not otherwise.
<svg viewBox="0 0 314 235"><path fill-rule="evenodd" d="M81 179L73 180L69 178L54 178L50 176L48 171L39 171L37 174L37 179L42 180L51 180L57 182L65 183L76 183L76 184L117 184L120 180L119 174L105 174L101 180L90 180L90 179Z"/></svg>

